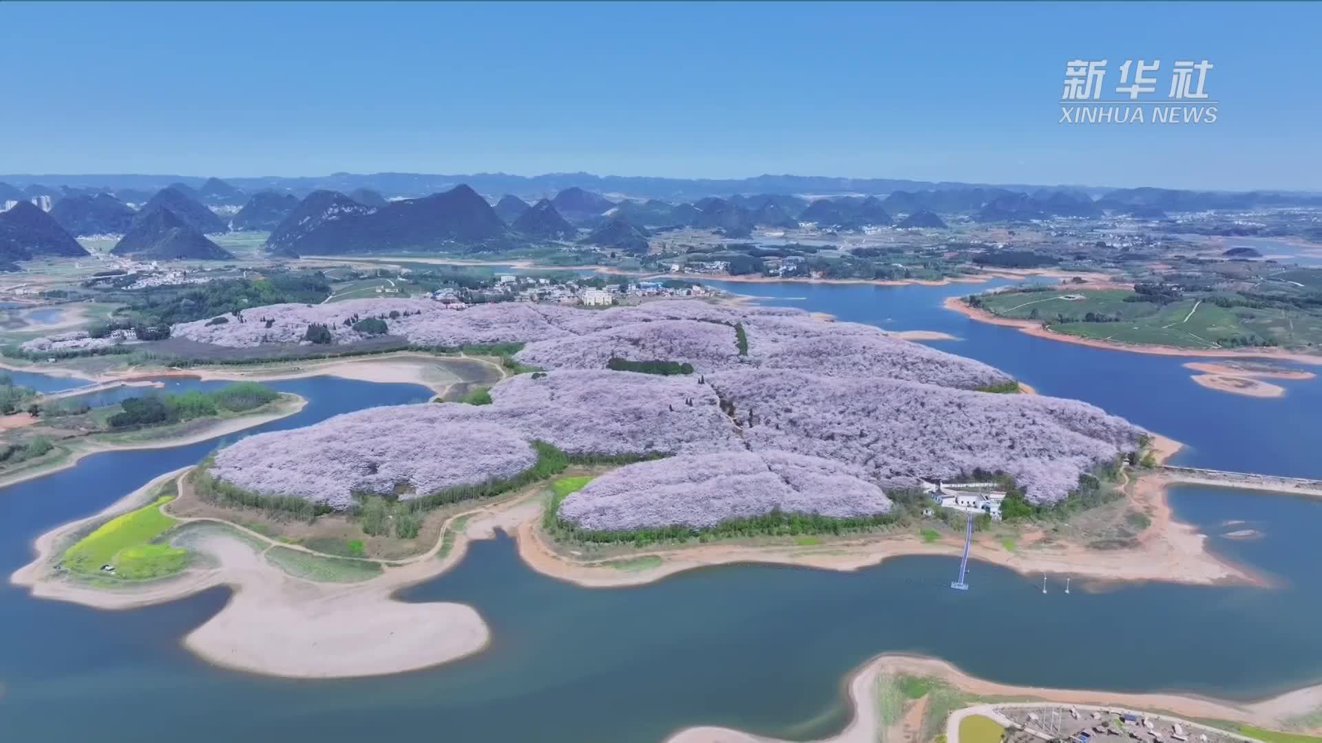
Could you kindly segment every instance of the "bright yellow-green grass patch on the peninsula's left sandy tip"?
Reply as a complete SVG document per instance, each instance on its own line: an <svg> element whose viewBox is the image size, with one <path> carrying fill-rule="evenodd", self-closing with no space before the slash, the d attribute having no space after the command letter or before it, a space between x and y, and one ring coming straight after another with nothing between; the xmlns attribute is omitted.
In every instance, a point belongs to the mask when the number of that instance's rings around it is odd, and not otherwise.
<svg viewBox="0 0 1322 743"><path fill-rule="evenodd" d="M63 565L70 571L104 575L103 565L115 566L115 576L145 579L178 572L188 565L188 550L155 543L177 521L160 506L173 500L161 496L149 505L116 516L65 550Z"/></svg>

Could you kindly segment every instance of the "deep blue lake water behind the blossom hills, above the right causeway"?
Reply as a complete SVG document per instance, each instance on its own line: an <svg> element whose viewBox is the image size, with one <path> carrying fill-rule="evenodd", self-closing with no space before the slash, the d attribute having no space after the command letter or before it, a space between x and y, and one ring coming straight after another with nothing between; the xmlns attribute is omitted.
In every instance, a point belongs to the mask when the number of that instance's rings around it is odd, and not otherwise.
<svg viewBox="0 0 1322 743"><path fill-rule="evenodd" d="M764 304L829 312L887 331L937 331L957 341L928 345L990 364L1044 395L1076 398L1186 444L1175 463L1243 472L1322 477L1322 379L1276 381L1281 398L1248 398L1194 383L1188 361L1038 338L941 307L1010 282L945 287L746 284L707 282Z"/></svg>

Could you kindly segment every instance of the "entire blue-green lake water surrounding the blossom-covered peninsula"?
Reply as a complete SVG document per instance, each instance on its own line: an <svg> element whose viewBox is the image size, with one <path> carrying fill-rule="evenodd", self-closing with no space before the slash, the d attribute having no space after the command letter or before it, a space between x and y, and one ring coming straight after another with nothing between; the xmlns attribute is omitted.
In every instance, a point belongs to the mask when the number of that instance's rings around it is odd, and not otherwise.
<svg viewBox="0 0 1322 743"><path fill-rule="evenodd" d="M970 323L940 307L960 288L759 284L752 292L887 329L956 334L964 340L933 345L1185 440L1190 464L1322 475L1310 455L1322 424L1314 382L1285 382L1286 405L1203 390L1181 360ZM795 296L810 299L784 299ZM274 386L311 402L258 430L428 395L333 378ZM95 455L0 490L0 572L30 559L37 534L215 446ZM976 563L973 590L962 594L947 588L956 559L911 557L849 574L726 566L650 586L583 590L533 572L501 537L475 543L452 571L402 594L472 604L492 627L488 650L426 672L311 682L214 669L180 648L178 637L223 606L223 588L102 612L4 584L0 730L8 735L0 739L642 743L690 724L806 739L843 724L842 680L880 652L933 654L1010 684L1247 698L1322 681L1322 576L1313 546L1322 501L1178 488L1171 502L1211 535L1214 550L1269 572L1282 588L1150 583L1089 592L1076 580L1068 595L1056 583L1042 595L1032 578ZM1247 525L1224 525L1236 520ZM1244 528L1264 537L1222 537Z"/></svg>

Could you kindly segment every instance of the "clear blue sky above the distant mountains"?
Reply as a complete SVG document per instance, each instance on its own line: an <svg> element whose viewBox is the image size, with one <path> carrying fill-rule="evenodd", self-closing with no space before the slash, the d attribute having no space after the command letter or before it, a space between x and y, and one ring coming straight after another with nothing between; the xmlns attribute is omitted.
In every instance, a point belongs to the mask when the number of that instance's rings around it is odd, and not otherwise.
<svg viewBox="0 0 1322 743"><path fill-rule="evenodd" d="M1314 4L0 3L0 173L587 171L1322 190ZM1210 59L1211 126L1058 124ZM1108 94L1110 91L1108 90Z"/></svg>

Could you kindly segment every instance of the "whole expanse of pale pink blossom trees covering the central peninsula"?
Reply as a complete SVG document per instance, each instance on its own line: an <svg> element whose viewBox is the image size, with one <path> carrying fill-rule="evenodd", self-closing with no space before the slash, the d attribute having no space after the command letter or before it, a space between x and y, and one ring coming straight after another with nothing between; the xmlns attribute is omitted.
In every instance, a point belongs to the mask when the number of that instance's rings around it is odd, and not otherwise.
<svg viewBox="0 0 1322 743"><path fill-rule="evenodd" d="M370 409L250 436L215 457L223 480L340 509L353 492L415 497L509 477L531 465L538 440L572 455L669 455L568 496L561 517L592 530L701 528L773 509L871 516L890 508L883 488L974 469L1007 472L1029 500L1052 502L1142 434L1083 402L974 391L1009 377L793 309L362 300L243 315L175 331L243 346L296 342L308 323L324 323L349 342L358 334L342 319L385 316L391 334L420 346L524 342L517 358L547 369L500 382L490 405ZM695 373L612 372L612 356L687 362Z"/></svg>

